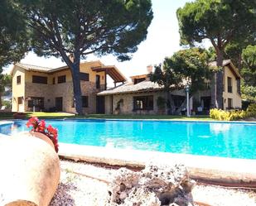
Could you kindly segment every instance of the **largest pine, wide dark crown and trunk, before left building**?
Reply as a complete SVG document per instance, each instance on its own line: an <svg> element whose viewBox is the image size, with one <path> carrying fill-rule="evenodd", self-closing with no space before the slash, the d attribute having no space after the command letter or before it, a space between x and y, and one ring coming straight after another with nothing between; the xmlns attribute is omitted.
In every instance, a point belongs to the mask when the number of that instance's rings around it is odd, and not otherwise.
<svg viewBox="0 0 256 206"><path fill-rule="evenodd" d="M82 113L80 59L94 53L129 60L138 44L146 39L152 21L150 0L20 2L27 12L36 54L61 56L70 67L77 113Z"/></svg>

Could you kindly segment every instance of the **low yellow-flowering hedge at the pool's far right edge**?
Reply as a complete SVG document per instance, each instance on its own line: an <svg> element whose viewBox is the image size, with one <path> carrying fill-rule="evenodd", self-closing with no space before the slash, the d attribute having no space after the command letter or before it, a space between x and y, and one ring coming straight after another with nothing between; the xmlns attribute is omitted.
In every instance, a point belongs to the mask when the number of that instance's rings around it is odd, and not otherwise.
<svg viewBox="0 0 256 206"><path fill-rule="evenodd" d="M256 117L256 103L250 104L245 111L239 110L228 112L217 108L210 109L210 118L216 120L233 121L244 119L246 117Z"/></svg>

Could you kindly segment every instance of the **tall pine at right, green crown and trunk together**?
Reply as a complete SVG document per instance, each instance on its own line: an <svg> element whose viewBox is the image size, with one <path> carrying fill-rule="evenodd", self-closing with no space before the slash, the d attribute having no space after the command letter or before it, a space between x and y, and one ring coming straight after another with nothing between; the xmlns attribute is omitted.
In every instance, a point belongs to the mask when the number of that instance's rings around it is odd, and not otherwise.
<svg viewBox="0 0 256 206"><path fill-rule="evenodd" d="M209 39L216 51L219 72L212 82L212 105L221 108L223 93L223 59L225 47L255 32L256 2L249 0L196 0L177 10L181 44L195 45Z"/></svg>

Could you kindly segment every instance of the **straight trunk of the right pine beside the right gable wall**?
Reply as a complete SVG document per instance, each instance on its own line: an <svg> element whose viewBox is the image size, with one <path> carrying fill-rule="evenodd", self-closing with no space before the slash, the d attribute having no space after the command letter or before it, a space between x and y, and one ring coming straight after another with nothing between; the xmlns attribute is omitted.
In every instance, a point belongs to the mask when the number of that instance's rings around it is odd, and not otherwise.
<svg viewBox="0 0 256 206"><path fill-rule="evenodd" d="M218 71L216 73L216 101L215 108L223 109L223 51L217 51L217 67Z"/></svg>

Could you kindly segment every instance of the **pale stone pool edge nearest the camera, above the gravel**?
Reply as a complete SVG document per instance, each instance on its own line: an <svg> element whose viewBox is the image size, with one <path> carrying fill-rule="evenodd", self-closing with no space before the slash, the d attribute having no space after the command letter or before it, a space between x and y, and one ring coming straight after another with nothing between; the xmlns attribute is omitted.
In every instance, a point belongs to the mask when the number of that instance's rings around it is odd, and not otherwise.
<svg viewBox="0 0 256 206"><path fill-rule="evenodd" d="M191 178L210 184L256 188L256 160L195 156L158 151L136 151L102 146L60 143L59 155L65 159L128 166L141 169L147 162L184 164Z"/></svg>

